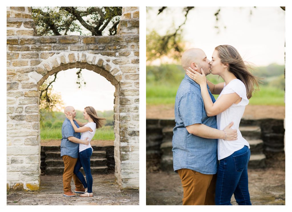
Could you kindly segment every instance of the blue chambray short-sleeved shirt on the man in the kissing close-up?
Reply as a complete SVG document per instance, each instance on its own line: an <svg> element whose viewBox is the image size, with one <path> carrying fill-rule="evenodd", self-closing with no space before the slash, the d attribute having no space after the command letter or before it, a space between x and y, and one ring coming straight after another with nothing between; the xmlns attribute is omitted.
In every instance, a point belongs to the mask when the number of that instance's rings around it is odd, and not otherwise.
<svg viewBox="0 0 292 212"><path fill-rule="evenodd" d="M214 103L215 98L210 91L209 95ZM196 123L217 128L216 116L206 115L201 88L187 75L176 93L174 114L175 127L172 138L174 171L186 168L202 174L216 174L217 139L198 137L190 134L186 128Z"/></svg>

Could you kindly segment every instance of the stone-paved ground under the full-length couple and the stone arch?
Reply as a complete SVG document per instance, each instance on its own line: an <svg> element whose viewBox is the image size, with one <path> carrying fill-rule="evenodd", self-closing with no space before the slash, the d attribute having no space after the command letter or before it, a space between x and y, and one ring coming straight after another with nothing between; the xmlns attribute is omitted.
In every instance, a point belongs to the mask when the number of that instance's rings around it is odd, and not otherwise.
<svg viewBox="0 0 292 212"><path fill-rule="evenodd" d="M64 197L62 175L41 175L40 191L8 190L7 205L139 205L139 190L120 190L113 171L92 177L93 197Z"/></svg>

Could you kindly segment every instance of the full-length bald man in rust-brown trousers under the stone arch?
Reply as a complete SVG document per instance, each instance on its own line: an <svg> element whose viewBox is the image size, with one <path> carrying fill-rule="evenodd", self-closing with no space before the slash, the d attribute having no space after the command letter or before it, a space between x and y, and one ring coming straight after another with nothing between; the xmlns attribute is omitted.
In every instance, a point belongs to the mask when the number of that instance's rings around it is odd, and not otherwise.
<svg viewBox="0 0 292 212"><path fill-rule="evenodd" d="M76 112L74 107L67 106L64 109L64 113L72 114L73 119L76 117ZM77 128L79 125L74 121ZM74 166L78 159L79 153L79 144L88 145L88 140L81 140L80 133L76 133L71 125L69 119L65 119L62 125L62 141L61 141L61 157L64 161L64 172L63 172L63 190L65 197L75 197L76 194L72 193L71 190L71 180L73 177L75 184L75 193L85 193L85 188L82 183L79 181L77 176L73 173Z"/></svg>

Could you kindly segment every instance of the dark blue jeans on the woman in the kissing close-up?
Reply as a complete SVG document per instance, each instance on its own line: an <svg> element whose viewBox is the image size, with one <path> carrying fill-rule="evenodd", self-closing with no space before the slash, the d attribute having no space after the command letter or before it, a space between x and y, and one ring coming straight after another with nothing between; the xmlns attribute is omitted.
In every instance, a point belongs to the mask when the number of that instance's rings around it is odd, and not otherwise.
<svg viewBox="0 0 292 212"><path fill-rule="evenodd" d="M248 192L247 164L251 151L247 146L220 160L217 172L215 204L231 205L234 194L239 205L251 205Z"/></svg>

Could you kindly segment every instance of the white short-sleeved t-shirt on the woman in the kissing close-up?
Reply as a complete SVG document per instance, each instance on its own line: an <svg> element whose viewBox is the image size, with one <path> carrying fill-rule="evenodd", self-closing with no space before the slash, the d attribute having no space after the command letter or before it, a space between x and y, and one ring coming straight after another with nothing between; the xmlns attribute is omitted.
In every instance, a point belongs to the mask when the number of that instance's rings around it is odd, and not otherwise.
<svg viewBox="0 0 292 212"><path fill-rule="evenodd" d="M218 139L218 160L232 155L232 153L242 149L244 146L248 146L248 149L250 148L248 142L242 137L239 131L240 119L244 113L245 106L248 105L249 102L246 97L246 87L244 83L239 79L233 79L226 86L224 84L224 88L217 100L224 94L234 92L237 93L242 99L240 103L231 105L225 111L217 115L217 129L223 130L230 122L233 121L234 124L231 129L237 130L237 140L224 141L223 139Z"/></svg>

